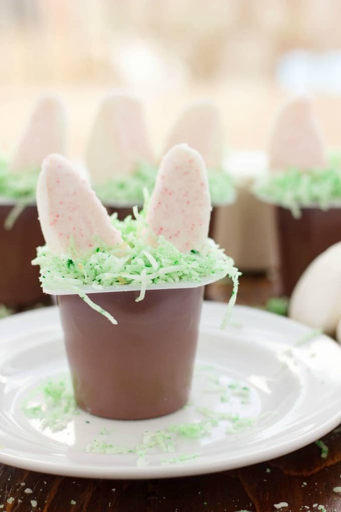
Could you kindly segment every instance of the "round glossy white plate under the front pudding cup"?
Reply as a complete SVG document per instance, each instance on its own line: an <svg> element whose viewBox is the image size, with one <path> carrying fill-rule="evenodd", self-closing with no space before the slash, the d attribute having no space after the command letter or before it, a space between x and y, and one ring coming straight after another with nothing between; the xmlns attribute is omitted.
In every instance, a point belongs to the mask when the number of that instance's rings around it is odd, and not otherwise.
<svg viewBox="0 0 341 512"><path fill-rule="evenodd" d="M340 347L324 335L297 345L310 329L246 307L235 307L232 324L221 331L225 307L204 304L186 408L144 421L111 421L81 412L64 418L58 432L43 428L42 420L29 419L22 409L23 403L41 403L34 390L42 381L67 374L57 308L0 321L0 462L80 477L175 477L265 461L332 430L341 421ZM221 419L230 413L256 418L255 424ZM211 414L214 424L207 423ZM94 438L101 446L135 447L145 431L146 441L170 425L193 422L208 426L207 432L196 439L171 433L173 444L166 443L166 452L162 442L142 456L84 451Z"/></svg>

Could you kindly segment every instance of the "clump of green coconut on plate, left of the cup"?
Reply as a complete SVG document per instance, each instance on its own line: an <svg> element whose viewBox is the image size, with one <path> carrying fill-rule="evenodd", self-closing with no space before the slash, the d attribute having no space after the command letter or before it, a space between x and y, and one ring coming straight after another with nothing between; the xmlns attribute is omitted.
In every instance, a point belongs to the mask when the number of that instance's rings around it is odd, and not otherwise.
<svg viewBox="0 0 341 512"><path fill-rule="evenodd" d="M42 395L43 401L37 403L39 394ZM37 404L31 405L32 401ZM46 384L35 390L33 397L24 403L23 409L29 418L40 420L43 430L63 430L74 415L78 414L70 379L49 379Z"/></svg>

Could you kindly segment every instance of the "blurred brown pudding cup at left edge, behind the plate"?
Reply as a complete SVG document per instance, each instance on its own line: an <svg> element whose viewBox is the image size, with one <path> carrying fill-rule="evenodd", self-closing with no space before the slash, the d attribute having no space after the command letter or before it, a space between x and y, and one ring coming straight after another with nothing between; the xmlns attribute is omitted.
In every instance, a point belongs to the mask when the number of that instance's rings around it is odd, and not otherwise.
<svg viewBox="0 0 341 512"><path fill-rule="evenodd" d="M13 226L6 229L5 220L14 206L14 202L0 204L0 304L20 310L38 302L49 304L51 298L40 287L39 268L31 265L36 247L45 243L37 207L25 206Z"/></svg>

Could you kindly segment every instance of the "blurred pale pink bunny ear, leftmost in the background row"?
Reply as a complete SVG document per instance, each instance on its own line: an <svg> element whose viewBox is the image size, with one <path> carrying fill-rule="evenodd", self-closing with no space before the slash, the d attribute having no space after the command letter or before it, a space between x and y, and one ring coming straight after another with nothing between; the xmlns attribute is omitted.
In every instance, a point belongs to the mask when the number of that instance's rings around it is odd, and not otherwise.
<svg viewBox="0 0 341 512"><path fill-rule="evenodd" d="M63 103L55 96L40 98L29 118L8 169L12 173L40 170L51 153L65 154L66 114Z"/></svg>

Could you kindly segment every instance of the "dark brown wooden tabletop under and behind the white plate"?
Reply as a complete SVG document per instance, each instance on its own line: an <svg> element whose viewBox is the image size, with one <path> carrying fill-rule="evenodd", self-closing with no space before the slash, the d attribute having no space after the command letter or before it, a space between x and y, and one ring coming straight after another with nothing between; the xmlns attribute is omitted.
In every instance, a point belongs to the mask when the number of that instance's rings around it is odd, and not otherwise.
<svg viewBox="0 0 341 512"><path fill-rule="evenodd" d="M244 276L238 302L262 306L277 292L276 280ZM228 285L215 285L207 295L225 301L229 293ZM166 480L87 480L2 465L0 512L273 512L274 504L280 502L289 504L282 512L321 512L322 506L326 512L341 512L341 494L333 492L341 486L341 429L323 440L329 447L325 459L311 444L240 470ZM31 488L32 494L26 494L26 488ZM9 498L14 501L8 503ZM37 502L36 507L31 500Z"/></svg>

